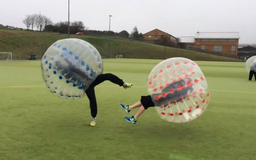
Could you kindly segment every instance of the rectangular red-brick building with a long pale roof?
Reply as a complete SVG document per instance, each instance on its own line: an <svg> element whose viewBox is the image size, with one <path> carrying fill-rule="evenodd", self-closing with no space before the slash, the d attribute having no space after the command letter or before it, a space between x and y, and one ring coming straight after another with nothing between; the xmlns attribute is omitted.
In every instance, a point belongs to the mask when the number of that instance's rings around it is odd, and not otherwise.
<svg viewBox="0 0 256 160"><path fill-rule="evenodd" d="M184 43L188 47L194 45L194 48L203 51L237 55L240 37L238 32L196 32L194 39L194 44ZM192 42L192 40L189 42Z"/></svg>

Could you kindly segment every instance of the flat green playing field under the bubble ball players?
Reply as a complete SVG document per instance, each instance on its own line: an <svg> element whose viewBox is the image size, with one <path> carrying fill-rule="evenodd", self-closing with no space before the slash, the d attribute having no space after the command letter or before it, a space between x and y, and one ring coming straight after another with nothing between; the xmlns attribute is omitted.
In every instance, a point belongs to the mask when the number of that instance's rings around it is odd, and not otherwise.
<svg viewBox="0 0 256 160"><path fill-rule="evenodd" d="M96 127L86 97L64 100L47 90L40 61L0 62L0 159L256 159L256 82L244 63L196 62L211 89L209 108L196 120L173 124L150 108L136 125L126 122L119 104L148 94L148 73L159 62L104 60L104 72L134 86L95 88Z"/></svg>

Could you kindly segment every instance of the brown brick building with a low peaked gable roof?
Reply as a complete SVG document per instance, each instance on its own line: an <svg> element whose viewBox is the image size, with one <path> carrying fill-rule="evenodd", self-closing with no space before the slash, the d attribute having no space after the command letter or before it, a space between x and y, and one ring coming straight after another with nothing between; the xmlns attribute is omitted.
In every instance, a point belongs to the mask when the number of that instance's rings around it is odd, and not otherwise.
<svg viewBox="0 0 256 160"><path fill-rule="evenodd" d="M143 34L143 39L144 40L159 40L161 38L161 36L170 38L170 41L174 42L175 44L177 44L177 42L178 42L178 39L175 36L165 33L164 31L161 31L159 29L154 29L152 31L149 31L149 32Z"/></svg>

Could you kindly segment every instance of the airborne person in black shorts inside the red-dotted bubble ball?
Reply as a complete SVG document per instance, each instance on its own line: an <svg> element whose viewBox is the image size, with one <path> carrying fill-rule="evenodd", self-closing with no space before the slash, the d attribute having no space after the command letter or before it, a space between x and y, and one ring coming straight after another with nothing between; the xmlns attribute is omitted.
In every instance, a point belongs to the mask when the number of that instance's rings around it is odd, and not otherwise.
<svg viewBox="0 0 256 160"><path fill-rule="evenodd" d="M131 106L129 105L125 106L124 104L120 104L121 108L124 109L126 113L130 113L132 109L140 107L136 115L131 117L125 117L125 120L127 120L127 122L130 122L132 124L136 124L139 116L141 116L145 112L145 110L147 110L148 108L155 107L155 106L162 106L162 105L167 106L166 104L168 104L168 102L171 102L171 104L174 104L184 99L184 97L188 97L188 91L190 91L190 93L193 92L193 88L192 88L193 84L191 82L192 80L190 78L181 79L180 81L177 81L175 83L170 84L169 86L166 86L166 88L164 88L161 93L156 93L154 95L141 96L141 100L136 102L135 104L132 104ZM187 86L188 83L190 83L189 86ZM182 89L179 88L180 86L182 86ZM186 87L183 88L183 86L186 86ZM170 93L170 90L173 90L173 92ZM163 93L164 94L167 93L167 94L164 97L162 97ZM159 98L158 100L152 100L152 97L161 97L161 98Z"/></svg>

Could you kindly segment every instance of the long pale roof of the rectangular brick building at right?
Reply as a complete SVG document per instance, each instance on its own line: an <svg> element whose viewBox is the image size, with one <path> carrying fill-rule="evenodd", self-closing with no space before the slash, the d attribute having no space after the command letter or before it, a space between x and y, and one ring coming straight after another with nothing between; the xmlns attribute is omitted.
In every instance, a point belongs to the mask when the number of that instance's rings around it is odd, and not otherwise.
<svg viewBox="0 0 256 160"><path fill-rule="evenodd" d="M238 32L196 32L195 38L198 39L239 39Z"/></svg>

